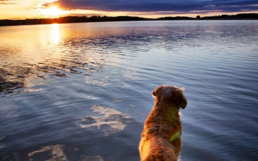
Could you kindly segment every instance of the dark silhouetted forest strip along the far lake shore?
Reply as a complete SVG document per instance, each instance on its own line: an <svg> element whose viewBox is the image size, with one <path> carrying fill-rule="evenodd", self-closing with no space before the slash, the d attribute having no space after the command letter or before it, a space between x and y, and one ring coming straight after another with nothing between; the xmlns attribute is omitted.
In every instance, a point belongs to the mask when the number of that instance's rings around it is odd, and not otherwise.
<svg viewBox="0 0 258 161"><path fill-rule="evenodd" d="M131 17L131 16L118 16L118 17L107 17L107 16L66 16L59 18L40 18L40 19L2 19L0 20L0 26L12 26L12 25L38 25L38 24L52 24L52 23L79 23L79 22L105 22L105 21L146 21L146 20L233 20L233 19L258 19L258 13L241 13L237 15L219 15L219 16L206 16L196 18L193 17L161 17L157 19L142 18L142 17Z"/></svg>

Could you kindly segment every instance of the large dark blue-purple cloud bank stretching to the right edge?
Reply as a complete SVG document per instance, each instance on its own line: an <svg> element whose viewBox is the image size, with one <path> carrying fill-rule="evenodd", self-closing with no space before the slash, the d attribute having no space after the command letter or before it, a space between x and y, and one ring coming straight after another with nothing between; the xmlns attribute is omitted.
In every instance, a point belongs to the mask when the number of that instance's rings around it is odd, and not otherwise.
<svg viewBox="0 0 258 161"><path fill-rule="evenodd" d="M258 11L257 0L59 0L45 3L44 7L59 6L62 9L99 11L189 13L190 11L241 12Z"/></svg>

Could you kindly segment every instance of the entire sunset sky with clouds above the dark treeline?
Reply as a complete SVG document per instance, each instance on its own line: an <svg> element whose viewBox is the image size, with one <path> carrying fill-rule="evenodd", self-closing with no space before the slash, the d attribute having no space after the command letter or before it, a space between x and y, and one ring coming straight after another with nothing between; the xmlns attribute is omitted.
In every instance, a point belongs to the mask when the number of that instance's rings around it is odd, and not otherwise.
<svg viewBox="0 0 258 161"><path fill-rule="evenodd" d="M0 19L76 16L145 18L258 13L258 0L0 0Z"/></svg>

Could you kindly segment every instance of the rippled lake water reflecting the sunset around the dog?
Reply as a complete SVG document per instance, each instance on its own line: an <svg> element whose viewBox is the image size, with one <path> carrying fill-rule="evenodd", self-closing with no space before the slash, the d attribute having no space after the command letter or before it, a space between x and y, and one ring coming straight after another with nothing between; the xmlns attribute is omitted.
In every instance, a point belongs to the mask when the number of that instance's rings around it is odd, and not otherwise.
<svg viewBox="0 0 258 161"><path fill-rule="evenodd" d="M139 160L162 84L186 88L183 161L258 158L258 21L12 26L0 37L0 160Z"/></svg>

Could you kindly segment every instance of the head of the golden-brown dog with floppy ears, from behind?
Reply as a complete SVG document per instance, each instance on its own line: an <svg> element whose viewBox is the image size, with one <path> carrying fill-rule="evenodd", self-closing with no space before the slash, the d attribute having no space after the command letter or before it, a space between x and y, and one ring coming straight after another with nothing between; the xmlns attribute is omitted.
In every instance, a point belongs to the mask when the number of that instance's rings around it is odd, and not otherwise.
<svg viewBox="0 0 258 161"><path fill-rule="evenodd" d="M177 108L185 109L187 105L187 99L183 94L184 88L178 88L176 86L159 86L156 88L152 95L156 98L156 102L162 101L166 103L175 104Z"/></svg>

